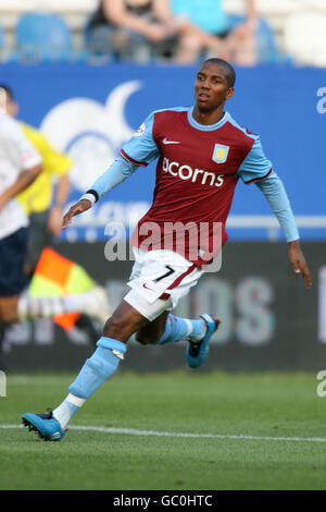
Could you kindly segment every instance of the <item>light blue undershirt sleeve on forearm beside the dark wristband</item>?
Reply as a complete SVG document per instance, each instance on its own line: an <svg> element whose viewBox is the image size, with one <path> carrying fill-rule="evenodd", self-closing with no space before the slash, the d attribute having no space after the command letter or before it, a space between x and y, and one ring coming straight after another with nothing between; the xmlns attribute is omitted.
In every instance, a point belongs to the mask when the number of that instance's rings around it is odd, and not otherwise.
<svg viewBox="0 0 326 512"><path fill-rule="evenodd" d="M116 185L126 180L133 172L138 169L136 166L125 158L118 156L116 160L109 167L109 169L97 179L92 184L91 190L98 194L98 197L102 197L108 192L112 191Z"/></svg>

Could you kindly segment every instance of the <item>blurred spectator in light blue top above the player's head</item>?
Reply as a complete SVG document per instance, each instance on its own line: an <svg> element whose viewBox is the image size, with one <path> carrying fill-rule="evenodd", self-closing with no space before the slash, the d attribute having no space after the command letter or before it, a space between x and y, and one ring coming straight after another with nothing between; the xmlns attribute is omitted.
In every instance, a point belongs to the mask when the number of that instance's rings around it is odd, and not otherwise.
<svg viewBox="0 0 326 512"><path fill-rule="evenodd" d="M187 16L201 31L224 42L224 58L239 65L256 63L258 15L254 0L244 0L246 19L234 24L222 0L171 0L174 15Z"/></svg>

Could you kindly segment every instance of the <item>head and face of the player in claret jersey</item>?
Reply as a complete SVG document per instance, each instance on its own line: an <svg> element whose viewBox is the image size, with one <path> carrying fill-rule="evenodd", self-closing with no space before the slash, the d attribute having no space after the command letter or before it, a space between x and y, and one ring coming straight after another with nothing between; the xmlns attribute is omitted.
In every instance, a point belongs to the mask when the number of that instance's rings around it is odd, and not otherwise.
<svg viewBox="0 0 326 512"><path fill-rule="evenodd" d="M212 111L221 107L234 94L227 82L227 72L214 63L203 64L195 82L195 99L202 111Z"/></svg>

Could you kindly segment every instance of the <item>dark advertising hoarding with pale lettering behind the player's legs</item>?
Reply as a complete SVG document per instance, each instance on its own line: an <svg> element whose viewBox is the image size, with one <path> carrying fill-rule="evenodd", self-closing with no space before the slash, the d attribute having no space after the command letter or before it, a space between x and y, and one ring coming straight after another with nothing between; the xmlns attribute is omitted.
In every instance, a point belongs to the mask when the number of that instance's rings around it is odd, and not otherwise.
<svg viewBox="0 0 326 512"><path fill-rule="evenodd" d="M55 248L105 283L113 307L120 303L127 291L131 261L108 261L101 243L61 243ZM203 276L174 312L186 318L205 312L221 315L221 329L200 371L326 369L326 246L308 242L303 248L312 290L293 273L286 244L226 244L221 271ZM4 369L9 370L77 370L93 350L85 333L66 333L47 319L13 326L3 348ZM186 368L185 343L142 346L131 340L123 368Z"/></svg>

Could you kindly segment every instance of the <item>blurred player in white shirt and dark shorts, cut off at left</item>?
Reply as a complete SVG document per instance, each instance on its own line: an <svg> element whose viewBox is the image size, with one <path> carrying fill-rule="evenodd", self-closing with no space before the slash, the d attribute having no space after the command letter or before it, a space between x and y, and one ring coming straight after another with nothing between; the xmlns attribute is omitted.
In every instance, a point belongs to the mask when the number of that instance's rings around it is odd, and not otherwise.
<svg viewBox="0 0 326 512"><path fill-rule="evenodd" d="M60 297L32 297L25 293L28 285L25 272L28 217L16 197L41 175L42 159L23 134L20 123L7 113L4 89L0 89L0 169L1 334L7 325L16 321L51 318L71 312L89 314L103 322L110 307L100 287L84 294Z"/></svg>

